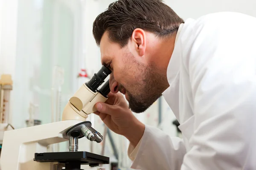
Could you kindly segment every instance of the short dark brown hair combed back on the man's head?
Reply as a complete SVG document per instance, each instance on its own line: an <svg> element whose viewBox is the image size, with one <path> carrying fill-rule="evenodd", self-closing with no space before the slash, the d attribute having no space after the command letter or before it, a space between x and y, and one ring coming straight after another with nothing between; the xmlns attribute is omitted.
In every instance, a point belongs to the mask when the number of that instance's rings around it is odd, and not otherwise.
<svg viewBox="0 0 256 170"><path fill-rule="evenodd" d="M93 37L100 44L105 31L111 41L124 47L135 28L163 37L184 21L162 0L118 0L99 14L93 23Z"/></svg>

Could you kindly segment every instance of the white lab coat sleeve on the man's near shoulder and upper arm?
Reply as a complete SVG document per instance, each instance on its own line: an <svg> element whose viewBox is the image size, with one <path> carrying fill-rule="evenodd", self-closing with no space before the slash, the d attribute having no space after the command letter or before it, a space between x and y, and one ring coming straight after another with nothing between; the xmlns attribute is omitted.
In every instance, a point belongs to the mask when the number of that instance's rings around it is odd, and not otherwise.
<svg viewBox="0 0 256 170"><path fill-rule="evenodd" d="M195 117L181 170L255 169L256 36L214 27L202 26L183 60Z"/></svg>

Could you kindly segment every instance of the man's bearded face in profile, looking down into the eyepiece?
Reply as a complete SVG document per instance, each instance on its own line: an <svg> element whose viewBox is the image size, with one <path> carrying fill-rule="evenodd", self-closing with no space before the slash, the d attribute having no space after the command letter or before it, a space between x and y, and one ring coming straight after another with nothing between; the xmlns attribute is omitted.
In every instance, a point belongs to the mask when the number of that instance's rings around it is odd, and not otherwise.
<svg viewBox="0 0 256 170"><path fill-rule="evenodd" d="M146 53L143 57L137 55L131 41L121 48L118 43L111 42L105 33L100 42L101 60L112 71L111 92L125 94L131 111L141 113L166 89L162 85L166 75L161 75L155 64L146 59Z"/></svg>

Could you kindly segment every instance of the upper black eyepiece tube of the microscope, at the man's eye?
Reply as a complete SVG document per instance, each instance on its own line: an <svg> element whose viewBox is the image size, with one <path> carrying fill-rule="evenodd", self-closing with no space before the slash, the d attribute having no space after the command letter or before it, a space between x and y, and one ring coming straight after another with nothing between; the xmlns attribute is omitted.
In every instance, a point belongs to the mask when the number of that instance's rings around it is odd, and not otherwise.
<svg viewBox="0 0 256 170"><path fill-rule="evenodd" d="M92 79L90 79L89 82L85 83L85 85L87 85L87 87L90 88L91 91L96 92L97 88L102 85L105 78L108 77L109 74L111 74L111 70L103 65L98 73L94 74Z"/></svg>

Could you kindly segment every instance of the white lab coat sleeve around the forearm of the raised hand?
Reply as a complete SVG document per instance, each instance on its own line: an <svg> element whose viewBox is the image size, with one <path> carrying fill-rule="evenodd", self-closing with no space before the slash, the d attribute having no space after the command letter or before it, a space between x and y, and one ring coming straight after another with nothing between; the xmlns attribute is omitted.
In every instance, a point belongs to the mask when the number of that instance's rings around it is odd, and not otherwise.
<svg viewBox="0 0 256 170"><path fill-rule="evenodd" d="M131 168L137 170L180 170L186 153L182 139L169 137L162 130L148 125L145 125L143 137L137 147L137 154L131 165Z"/></svg>

